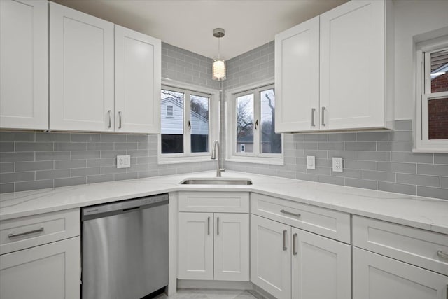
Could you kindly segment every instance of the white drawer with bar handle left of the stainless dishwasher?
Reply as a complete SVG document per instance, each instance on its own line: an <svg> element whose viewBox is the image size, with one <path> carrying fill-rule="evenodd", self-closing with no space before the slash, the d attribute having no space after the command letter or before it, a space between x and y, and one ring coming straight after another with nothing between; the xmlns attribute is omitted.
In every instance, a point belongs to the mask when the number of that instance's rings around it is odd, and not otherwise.
<svg viewBox="0 0 448 299"><path fill-rule="evenodd" d="M1 221L0 253L78 236L79 217L79 209L71 209Z"/></svg>

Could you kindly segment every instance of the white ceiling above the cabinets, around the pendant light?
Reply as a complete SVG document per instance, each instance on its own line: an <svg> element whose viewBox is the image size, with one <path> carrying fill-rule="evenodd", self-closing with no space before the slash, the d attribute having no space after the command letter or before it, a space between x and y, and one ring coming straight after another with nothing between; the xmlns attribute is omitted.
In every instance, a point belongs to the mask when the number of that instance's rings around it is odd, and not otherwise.
<svg viewBox="0 0 448 299"><path fill-rule="evenodd" d="M214 28L225 29L221 58L229 60L346 0L53 0L165 43L218 56Z"/></svg>

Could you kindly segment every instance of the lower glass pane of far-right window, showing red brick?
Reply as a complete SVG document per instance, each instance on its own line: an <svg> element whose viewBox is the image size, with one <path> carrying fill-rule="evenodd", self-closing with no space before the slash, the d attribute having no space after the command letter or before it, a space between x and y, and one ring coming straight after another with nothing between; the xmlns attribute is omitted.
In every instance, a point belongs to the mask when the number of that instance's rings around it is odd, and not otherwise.
<svg viewBox="0 0 448 299"><path fill-rule="evenodd" d="M428 100L428 139L448 139L448 97Z"/></svg>

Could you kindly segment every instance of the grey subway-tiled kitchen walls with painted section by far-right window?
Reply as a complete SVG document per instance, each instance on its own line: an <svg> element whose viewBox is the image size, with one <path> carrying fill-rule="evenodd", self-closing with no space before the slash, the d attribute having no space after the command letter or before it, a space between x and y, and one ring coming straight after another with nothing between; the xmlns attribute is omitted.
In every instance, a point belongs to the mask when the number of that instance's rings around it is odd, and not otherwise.
<svg viewBox="0 0 448 299"><path fill-rule="evenodd" d="M285 134L285 165L225 162L227 169L343 186L438 197L448 200L448 154L412 153L414 35L448 26L448 1L395 1L395 118L388 132ZM162 43L162 77L220 89L211 80L212 60ZM271 80L274 42L227 62L223 90ZM221 113L224 113L224 102ZM225 126L221 124L225 140ZM223 142L225 144L225 142ZM224 151L223 151L224 152ZM116 155L131 155L129 169L116 168ZM316 169L306 156L316 155ZM344 172L331 170L333 156ZM116 181L214 169L216 162L158 165L157 136L0 132L0 193Z"/></svg>

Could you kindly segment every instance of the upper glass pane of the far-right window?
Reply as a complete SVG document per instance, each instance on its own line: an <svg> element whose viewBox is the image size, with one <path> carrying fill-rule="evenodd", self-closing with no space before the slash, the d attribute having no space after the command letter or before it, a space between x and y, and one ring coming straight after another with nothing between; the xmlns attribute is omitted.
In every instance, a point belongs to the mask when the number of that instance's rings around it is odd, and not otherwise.
<svg viewBox="0 0 448 299"><path fill-rule="evenodd" d="M431 93L448 91L448 50L431 53Z"/></svg>

